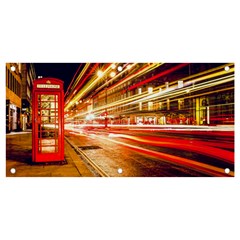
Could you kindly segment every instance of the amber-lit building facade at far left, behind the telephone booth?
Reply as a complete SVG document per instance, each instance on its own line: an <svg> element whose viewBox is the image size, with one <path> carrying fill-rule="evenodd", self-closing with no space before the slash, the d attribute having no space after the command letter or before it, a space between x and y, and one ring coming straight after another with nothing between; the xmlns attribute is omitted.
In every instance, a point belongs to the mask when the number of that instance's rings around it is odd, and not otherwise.
<svg viewBox="0 0 240 240"><path fill-rule="evenodd" d="M26 130L31 123L34 67L27 63L6 63L6 132Z"/></svg>

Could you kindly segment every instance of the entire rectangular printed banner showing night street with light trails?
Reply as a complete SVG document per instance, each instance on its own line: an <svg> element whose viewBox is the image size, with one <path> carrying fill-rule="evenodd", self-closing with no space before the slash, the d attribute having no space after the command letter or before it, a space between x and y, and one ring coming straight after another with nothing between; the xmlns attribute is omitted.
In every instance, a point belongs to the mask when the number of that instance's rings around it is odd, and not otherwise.
<svg viewBox="0 0 240 240"><path fill-rule="evenodd" d="M8 63L6 86L7 176L234 176L233 63Z"/></svg>

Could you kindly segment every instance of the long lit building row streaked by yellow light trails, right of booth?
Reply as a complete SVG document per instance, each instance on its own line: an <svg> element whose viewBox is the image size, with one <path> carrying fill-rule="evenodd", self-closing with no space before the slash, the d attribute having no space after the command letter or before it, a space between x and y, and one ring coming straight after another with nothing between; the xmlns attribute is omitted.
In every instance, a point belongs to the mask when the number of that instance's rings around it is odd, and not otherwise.
<svg viewBox="0 0 240 240"><path fill-rule="evenodd" d="M83 97L67 110L69 119L96 124L106 118L111 124L234 124L233 63L118 66L119 72L117 66L101 66L109 71L92 78L92 88L82 87ZM73 89L73 96L77 94Z"/></svg>

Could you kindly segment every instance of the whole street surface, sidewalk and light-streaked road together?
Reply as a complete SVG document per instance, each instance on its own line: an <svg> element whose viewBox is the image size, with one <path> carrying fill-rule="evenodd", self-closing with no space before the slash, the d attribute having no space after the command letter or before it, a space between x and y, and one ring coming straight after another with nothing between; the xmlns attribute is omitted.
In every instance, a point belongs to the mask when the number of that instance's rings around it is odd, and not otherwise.
<svg viewBox="0 0 240 240"><path fill-rule="evenodd" d="M66 162L49 165L31 164L31 136L8 135L7 176L234 176L232 129L74 127L65 130Z"/></svg>

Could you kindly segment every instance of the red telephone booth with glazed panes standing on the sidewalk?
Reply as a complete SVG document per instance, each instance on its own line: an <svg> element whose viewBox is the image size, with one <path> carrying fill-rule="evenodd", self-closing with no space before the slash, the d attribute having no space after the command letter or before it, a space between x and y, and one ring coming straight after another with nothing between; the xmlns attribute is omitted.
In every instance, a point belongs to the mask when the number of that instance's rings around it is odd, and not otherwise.
<svg viewBox="0 0 240 240"><path fill-rule="evenodd" d="M32 161L64 161L63 81L41 78L33 82Z"/></svg>

